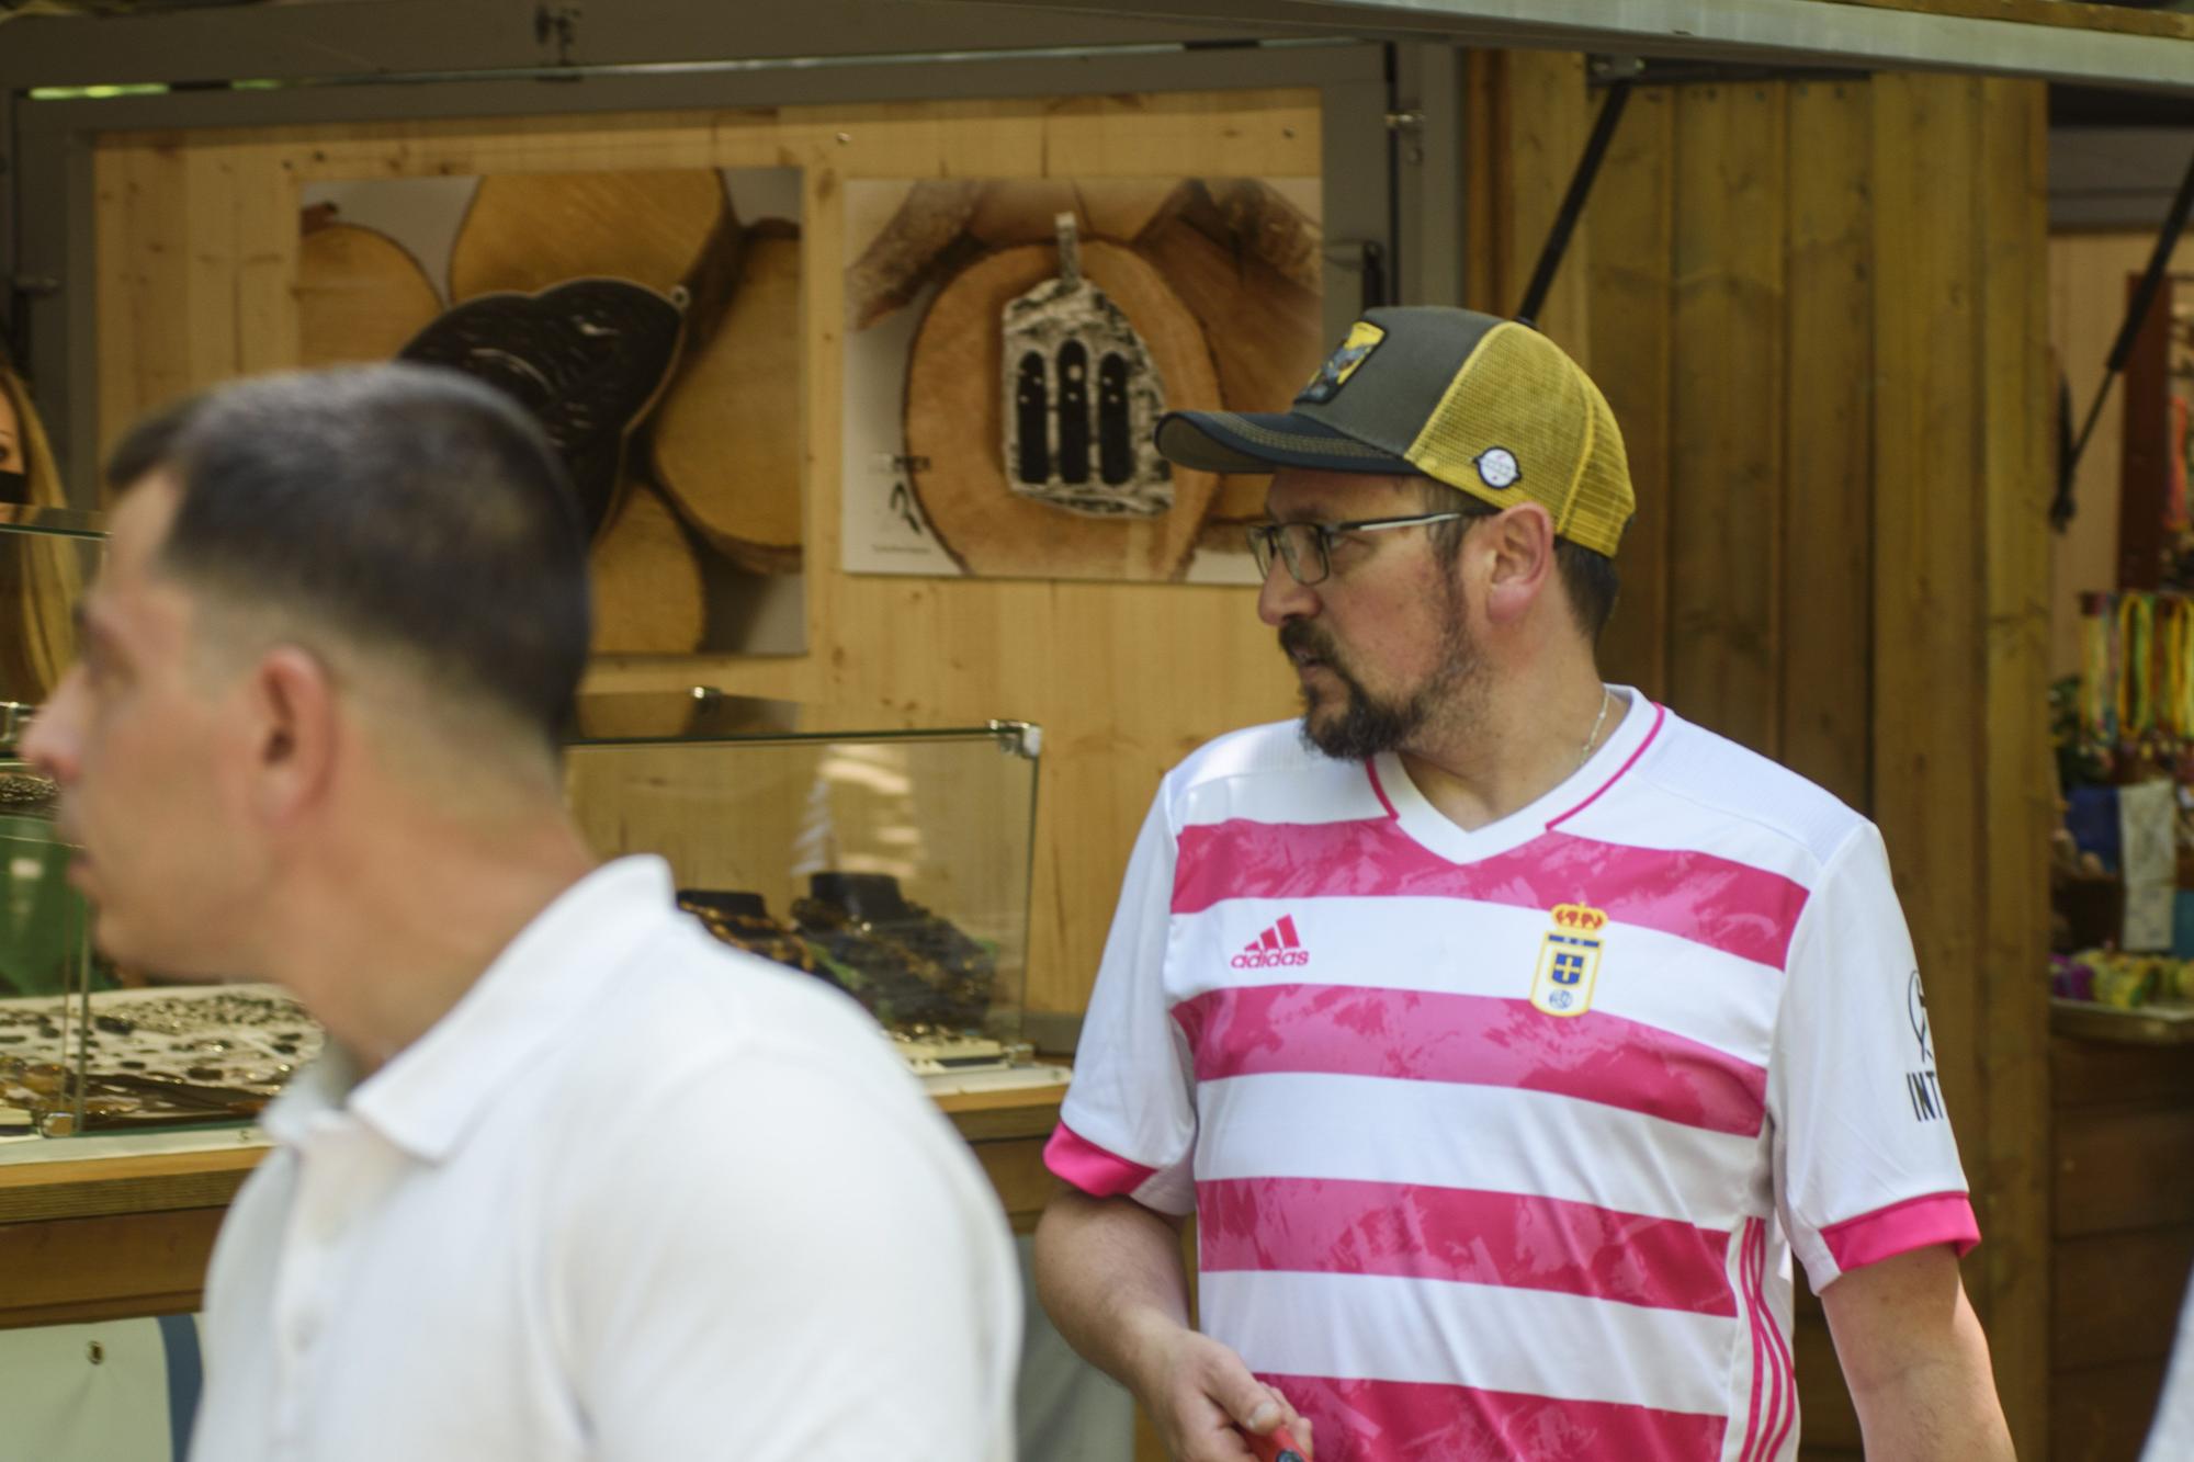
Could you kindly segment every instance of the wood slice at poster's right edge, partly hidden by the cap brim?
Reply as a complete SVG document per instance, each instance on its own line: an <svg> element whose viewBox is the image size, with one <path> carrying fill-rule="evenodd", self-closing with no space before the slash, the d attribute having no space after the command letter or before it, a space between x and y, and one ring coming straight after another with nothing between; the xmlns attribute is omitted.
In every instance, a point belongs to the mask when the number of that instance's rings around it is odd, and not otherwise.
<svg viewBox="0 0 2194 1462"><path fill-rule="evenodd" d="M1262 259L1237 259L1183 220L1161 222L1134 248L1205 327L1226 411L1286 411L1316 375L1325 360L1316 294ZM1257 522L1270 481L1224 476L1207 520L1229 529Z"/></svg>

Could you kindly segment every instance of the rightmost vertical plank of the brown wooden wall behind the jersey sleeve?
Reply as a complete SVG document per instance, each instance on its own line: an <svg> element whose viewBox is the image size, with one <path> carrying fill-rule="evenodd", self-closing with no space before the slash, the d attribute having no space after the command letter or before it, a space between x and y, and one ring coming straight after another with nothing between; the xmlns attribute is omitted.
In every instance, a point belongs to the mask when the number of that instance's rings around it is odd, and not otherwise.
<svg viewBox="0 0 2194 1462"><path fill-rule="evenodd" d="M1939 729L1933 766L1975 764L1981 786L1981 889L1975 1073L1986 1109L1981 1223L1994 1242L1979 1253L1999 1381L2014 1438L2038 1451L2049 1433L2049 1001L2040 972L2049 948L2049 832L2058 825L2049 749L2049 536L2056 432L2049 353L2049 112L2040 86L1961 79L1959 105L1979 110L1970 167L1968 250L1979 279L1977 369L1981 441L1968 459L1968 525L1981 540L1979 716ZM1935 204L1942 206L1939 200ZM1959 428L1935 430L1957 437ZM1968 424L1970 439L1970 424ZM1977 468L1977 472L1975 472ZM1907 481L1904 492L1924 492ZM1878 621L1880 626L1880 621ZM1882 659L1880 637L1876 661ZM1922 687L1922 694L1933 694ZM1972 733L1979 731L1975 738ZM1880 731L1876 733L1880 740ZM1979 753L1979 755L1975 755ZM1926 768L1913 788L1924 797ZM1876 788L1880 799L1882 788ZM1882 806L1878 801L1878 806ZM1920 832L1924 801L1893 823ZM1931 918L1939 918L1931 909ZM1957 1030L1953 1025L1950 1030ZM1968 1163L1970 1152L1968 1146Z"/></svg>

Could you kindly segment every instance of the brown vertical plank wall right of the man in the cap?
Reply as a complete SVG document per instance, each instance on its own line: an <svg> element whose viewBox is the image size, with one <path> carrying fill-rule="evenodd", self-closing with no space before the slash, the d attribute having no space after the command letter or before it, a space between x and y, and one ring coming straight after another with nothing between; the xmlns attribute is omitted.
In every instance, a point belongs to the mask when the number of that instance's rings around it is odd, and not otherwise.
<svg viewBox="0 0 2194 1462"><path fill-rule="evenodd" d="M1477 75L1477 114L1501 119L1503 72ZM1608 393L1639 487L1604 670L1882 825L1988 1236L1966 1282L2029 1453L2049 1315L2045 145L2029 83L1641 90L1564 266L1584 316L1549 320ZM1512 307L1531 252L1481 266L1477 299ZM1806 1455L1856 1458L1810 1300L1799 1376Z"/></svg>

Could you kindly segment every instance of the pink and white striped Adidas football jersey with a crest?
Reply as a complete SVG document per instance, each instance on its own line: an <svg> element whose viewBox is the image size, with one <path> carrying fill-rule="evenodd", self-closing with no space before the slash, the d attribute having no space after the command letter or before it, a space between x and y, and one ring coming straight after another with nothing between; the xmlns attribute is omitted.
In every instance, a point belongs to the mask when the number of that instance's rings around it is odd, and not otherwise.
<svg viewBox="0 0 2194 1462"><path fill-rule="evenodd" d="M1979 1240L1880 834L1628 700L1474 832L1281 722L1136 841L1047 1159L1321 1462L1784 1462L1792 1253Z"/></svg>

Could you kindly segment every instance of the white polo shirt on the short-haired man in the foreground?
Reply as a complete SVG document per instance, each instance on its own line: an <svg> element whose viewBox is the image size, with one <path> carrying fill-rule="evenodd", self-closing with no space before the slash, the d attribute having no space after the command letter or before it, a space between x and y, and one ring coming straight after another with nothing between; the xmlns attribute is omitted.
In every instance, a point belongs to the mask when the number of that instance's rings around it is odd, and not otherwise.
<svg viewBox="0 0 2194 1462"><path fill-rule="evenodd" d="M265 1131L206 1280L197 1462L1011 1455L981 1168L851 1001L709 940L658 858Z"/></svg>

